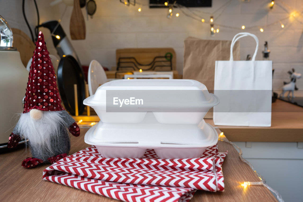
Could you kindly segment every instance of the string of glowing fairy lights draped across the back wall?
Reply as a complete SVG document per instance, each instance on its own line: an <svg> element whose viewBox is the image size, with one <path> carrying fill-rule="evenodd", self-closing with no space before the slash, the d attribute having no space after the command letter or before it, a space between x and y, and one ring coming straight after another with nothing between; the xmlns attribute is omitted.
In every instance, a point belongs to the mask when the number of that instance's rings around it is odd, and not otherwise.
<svg viewBox="0 0 303 202"><path fill-rule="evenodd" d="M250 0L243 0L243 2L240 3L249 3ZM268 1L268 0L267 0ZM139 6L159 6L159 4L141 4L139 2L136 2L135 0L120 0L120 2L124 3L125 5L129 6L129 5L139 5ZM220 6L219 8L217 8L214 12L204 12L201 11L200 9L196 9L196 8L188 8L185 7L183 5L180 5L178 3L176 3L176 1L172 4L169 3L169 1L166 1L164 3L164 5L168 8L168 14L167 14L167 18L171 19L173 17L173 10L174 8L177 8L178 10L181 11L181 14L197 20L201 23L207 23L210 25L210 33L211 36L214 36L215 33L218 33L220 31L220 27L223 28L228 28L228 29L235 29L235 30L259 30L260 32L264 32L264 30L266 30L266 28L270 27L270 26L274 26L274 25L279 25L281 27L281 29L285 28L285 24L288 23L287 20L289 21L290 18L296 20L297 22L303 24L303 22L301 22L299 20L299 17L301 16L302 12L298 12L295 9L291 8L289 5L287 5L285 2L283 2L282 0L270 0L268 1L268 8L269 10L271 10L272 8L274 8L274 6L280 6L283 7L285 12L288 13L288 16L281 18L275 22L272 22L270 24L267 25L253 25L253 26L248 26L248 25L241 25L240 27L235 27L235 26L229 26L229 25L222 25L222 24L218 24L215 21L223 14L223 12L225 11L226 8L228 8L228 6L231 4L232 0L228 0L227 2L225 2L222 6ZM139 7L138 8L138 12L142 12L142 8ZM220 12L220 13L218 13ZM217 14L218 13L218 14ZM177 12L175 14L176 17L179 17L181 15L179 12ZM214 18L215 16L215 18ZM209 21L207 20L209 19Z"/></svg>

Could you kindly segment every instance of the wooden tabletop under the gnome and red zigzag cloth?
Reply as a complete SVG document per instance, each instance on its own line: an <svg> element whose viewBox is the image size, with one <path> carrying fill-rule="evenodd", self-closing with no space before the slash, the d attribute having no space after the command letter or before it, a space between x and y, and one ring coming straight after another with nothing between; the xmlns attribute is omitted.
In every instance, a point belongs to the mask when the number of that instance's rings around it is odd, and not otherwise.
<svg viewBox="0 0 303 202"><path fill-rule="evenodd" d="M71 137L70 154L89 146L84 142L87 129L81 129L80 137ZM191 202L198 201L277 201L271 192L260 185L242 187L244 181L260 181L251 168L239 158L238 152L229 143L219 141L219 152L228 150L223 162L224 192L198 190ZM0 151L1 152L1 151ZM27 169L22 160L31 157L28 149L12 150L0 154L0 201L117 201L78 190L73 187L42 180L42 171L50 164ZM262 173L261 173L262 174Z"/></svg>

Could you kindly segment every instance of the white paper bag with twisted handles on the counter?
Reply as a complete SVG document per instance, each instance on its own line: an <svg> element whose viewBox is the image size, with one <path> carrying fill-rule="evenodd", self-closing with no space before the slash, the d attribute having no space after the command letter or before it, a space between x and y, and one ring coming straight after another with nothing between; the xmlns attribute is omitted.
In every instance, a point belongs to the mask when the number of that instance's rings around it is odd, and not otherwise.
<svg viewBox="0 0 303 202"><path fill-rule="evenodd" d="M251 36L256 49L251 61L233 61L235 42ZM214 107L215 125L271 126L272 61L255 61L258 38L241 32L231 42L229 61L216 61L214 93L220 104Z"/></svg>

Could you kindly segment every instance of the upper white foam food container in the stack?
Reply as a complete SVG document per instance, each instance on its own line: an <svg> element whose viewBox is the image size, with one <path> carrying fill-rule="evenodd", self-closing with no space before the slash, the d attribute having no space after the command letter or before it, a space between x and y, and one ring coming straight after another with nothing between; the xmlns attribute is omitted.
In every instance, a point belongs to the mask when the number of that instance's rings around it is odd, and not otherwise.
<svg viewBox="0 0 303 202"><path fill-rule="evenodd" d="M176 97L178 91L172 90L196 90L194 99L182 96L179 93L178 99L151 103L140 106L141 112L107 112L106 111L106 91L107 90L166 90L171 93L171 97ZM169 90L169 91L168 91ZM160 91L158 91L160 92ZM174 94L174 92L176 92ZM159 95L159 97L161 97ZM169 96L167 96L169 97ZM100 120L104 123L140 123L147 112L153 112L159 123L170 124L198 124L208 112L208 110L218 105L219 99L209 93L206 86L196 80L189 79L119 79L106 82L99 86L95 94L86 98L83 104L95 109ZM184 109L186 112L165 112L159 109L168 108ZM146 109L144 111L144 109ZM187 110L188 109L188 110ZM191 110L189 110L191 109Z"/></svg>

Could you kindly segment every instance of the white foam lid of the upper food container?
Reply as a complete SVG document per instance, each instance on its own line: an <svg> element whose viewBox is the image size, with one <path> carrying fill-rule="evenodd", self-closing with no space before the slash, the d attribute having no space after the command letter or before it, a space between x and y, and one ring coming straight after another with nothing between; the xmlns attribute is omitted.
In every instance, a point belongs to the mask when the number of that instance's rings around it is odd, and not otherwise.
<svg viewBox="0 0 303 202"><path fill-rule="evenodd" d="M117 100L130 97L142 99L143 105L139 106L142 111L144 108L161 107L211 108L219 103L218 97L209 93L204 84L189 79L113 80L99 86L95 94L86 98L83 103L92 107L114 107L115 97Z"/></svg>

